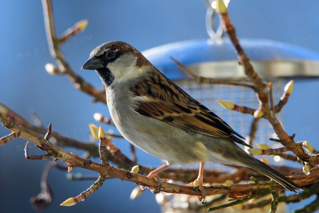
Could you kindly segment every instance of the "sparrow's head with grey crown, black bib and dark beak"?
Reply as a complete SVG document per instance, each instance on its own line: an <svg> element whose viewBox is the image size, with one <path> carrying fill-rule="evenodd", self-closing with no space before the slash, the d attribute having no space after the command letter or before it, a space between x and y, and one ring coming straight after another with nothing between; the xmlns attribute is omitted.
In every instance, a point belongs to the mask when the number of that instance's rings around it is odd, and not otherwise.
<svg viewBox="0 0 319 213"><path fill-rule="evenodd" d="M113 41L93 49L82 69L96 70L106 86L125 83L144 75L152 65L131 45Z"/></svg>

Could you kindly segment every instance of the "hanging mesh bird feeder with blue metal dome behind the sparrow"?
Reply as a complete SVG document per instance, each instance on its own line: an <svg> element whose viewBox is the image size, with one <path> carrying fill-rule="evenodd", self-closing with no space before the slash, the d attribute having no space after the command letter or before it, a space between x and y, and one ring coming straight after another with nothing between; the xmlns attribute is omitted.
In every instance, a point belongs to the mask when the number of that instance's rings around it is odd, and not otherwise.
<svg viewBox="0 0 319 213"><path fill-rule="evenodd" d="M181 42L179 45L174 45L175 47L168 48L166 45L165 48L163 45L160 51L154 52L150 48L148 52L143 52L143 54L159 71L247 139L253 117L249 114L226 110L219 105L217 100L227 100L236 105L257 109L255 92L246 87L198 83L186 75L170 58L173 57L187 66L196 76L249 83L244 66L238 63L242 56L236 54L231 41L222 36L221 23L219 23L217 30L214 30L213 18L216 14L214 2L206 1L206 4L208 5L206 30L210 36L209 39L201 39L199 36L194 37L194 39L189 38L187 42ZM227 6L228 2L225 4ZM310 34L293 41L239 39L239 42L262 80L273 82L273 99L279 100L288 79L319 77L319 54L299 47L297 44L297 42L311 39ZM276 117L284 126L283 109L276 114ZM269 137L276 137L272 126L265 119L259 120L253 145L263 143L268 144L271 148L278 148L278 143L270 143ZM267 160L272 165L283 165L283 159L280 159L279 156L276 157L269 156ZM195 169L198 168L198 164L189 165L189 167ZM224 165L207 162L205 169L209 168L227 170ZM175 204L182 205L181 202L175 202Z"/></svg>

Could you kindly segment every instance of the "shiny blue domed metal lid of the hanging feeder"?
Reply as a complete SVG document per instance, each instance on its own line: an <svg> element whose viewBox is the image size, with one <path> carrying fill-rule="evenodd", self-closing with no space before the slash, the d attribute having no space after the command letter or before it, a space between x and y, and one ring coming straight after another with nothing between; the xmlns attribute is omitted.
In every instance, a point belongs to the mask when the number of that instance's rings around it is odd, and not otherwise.
<svg viewBox="0 0 319 213"><path fill-rule="evenodd" d="M261 77L318 77L319 54L294 43L265 39L239 39L255 71ZM281 46L278 47L278 44ZM285 46L284 46L285 45ZM276 49L273 49L276 47ZM228 38L181 43L174 48L145 55L167 76L183 78L185 74L170 59L175 58L197 76L238 80L245 78L244 66Z"/></svg>

